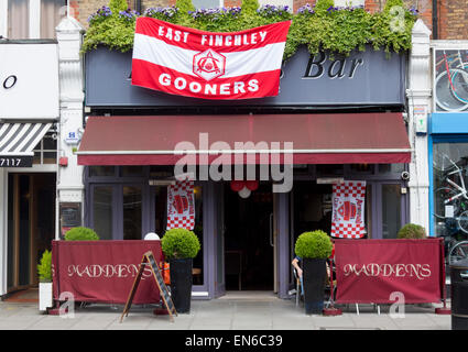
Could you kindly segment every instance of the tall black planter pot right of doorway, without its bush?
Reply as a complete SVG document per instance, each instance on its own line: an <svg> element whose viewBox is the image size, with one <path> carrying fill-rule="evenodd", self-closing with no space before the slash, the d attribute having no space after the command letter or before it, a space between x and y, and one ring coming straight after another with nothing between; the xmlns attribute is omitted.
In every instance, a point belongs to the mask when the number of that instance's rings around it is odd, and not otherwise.
<svg viewBox="0 0 468 352"><path fill-rule="evenodd" d="M306 315L322 315L326 275L326 260L304 258L303 285Z"/></svg>

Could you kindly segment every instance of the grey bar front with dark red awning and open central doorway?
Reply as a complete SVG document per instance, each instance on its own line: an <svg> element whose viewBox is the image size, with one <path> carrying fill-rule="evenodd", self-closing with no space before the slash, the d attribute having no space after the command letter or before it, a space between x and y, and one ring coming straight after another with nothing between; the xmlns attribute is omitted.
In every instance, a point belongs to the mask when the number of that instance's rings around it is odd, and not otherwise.
<svg viewBox="0 0 468 352"><path fill-rule="evenodd" d="M331 233L334 185L364 185L360 237L394 239L409 222L405 64L370 48L333 61L301 48L276 97L214 101L132 86L131 53L88 53L85 224L106 240L162 237L167 187L191 175L193 297L286 298L297 235Z"/></svg>

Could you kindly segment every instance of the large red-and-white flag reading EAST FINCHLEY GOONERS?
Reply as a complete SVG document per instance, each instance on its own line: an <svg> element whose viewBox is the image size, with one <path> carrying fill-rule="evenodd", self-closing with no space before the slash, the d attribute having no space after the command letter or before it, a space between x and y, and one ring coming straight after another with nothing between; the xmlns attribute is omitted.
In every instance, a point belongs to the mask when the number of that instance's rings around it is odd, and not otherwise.
<svg viewBox="0 0 468 352"><path fill-rule="evenodd" d="M213 33L139 18L132 85L204 99L276 96L290 25Z"/></svg>

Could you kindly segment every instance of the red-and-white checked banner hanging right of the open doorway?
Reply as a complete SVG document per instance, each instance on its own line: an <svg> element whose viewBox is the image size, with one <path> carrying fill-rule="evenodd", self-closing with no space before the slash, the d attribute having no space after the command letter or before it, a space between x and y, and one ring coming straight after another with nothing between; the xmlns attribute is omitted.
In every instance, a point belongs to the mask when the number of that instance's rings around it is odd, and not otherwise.
<svg viewBox="0 0 468 352"><path fill-rule="evenodd" d="M366 182L346 180L333 186L331 237L359 239L364 234Z"/></svg>

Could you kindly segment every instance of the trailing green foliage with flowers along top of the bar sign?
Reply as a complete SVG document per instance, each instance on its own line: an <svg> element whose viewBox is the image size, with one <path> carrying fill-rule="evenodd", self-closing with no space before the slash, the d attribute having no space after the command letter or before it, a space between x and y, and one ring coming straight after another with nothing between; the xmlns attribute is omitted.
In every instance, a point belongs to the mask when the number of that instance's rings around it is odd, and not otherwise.
<svg viewBox="0 0 468 352"><path fill-rule="evenodd" d="M311 54L330 51L349 55L367 44L374 50L400 52L411 48L411 31L417 18L414 9L404 9L403 0L388 0L382 12L369 13L363 7L336 8L334 0L317 0L292 13L287 7L263 6L258 0L244 0L242 8L195 10L191 0L178 0L174 7L151 8L143 14L122 8L111 0L89 16L83 52L105 45L128 52L133 46L138 16L152 16L171 23L209 32L237 32L246 29L292 20L284 51L290 58L300 45Z"/></svg>

